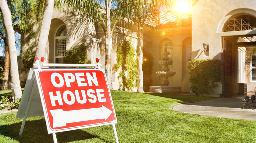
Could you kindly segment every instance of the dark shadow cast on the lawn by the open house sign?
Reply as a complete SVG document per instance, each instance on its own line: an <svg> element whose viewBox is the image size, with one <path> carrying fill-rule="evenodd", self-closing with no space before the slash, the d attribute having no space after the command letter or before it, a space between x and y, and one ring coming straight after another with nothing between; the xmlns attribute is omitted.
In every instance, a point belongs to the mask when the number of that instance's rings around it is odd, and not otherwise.
<svg viewBox="0 0 256 143"><path fill-rule="evenodd" d="M48 134L45 119L39 119L34 121L26 121L23 133L19 136L19 130L21 127L21 122L2 125L0 126L0 135L10 137L13 140L17 140L21 143L36 142L36 143L51 143L53 142L52 134ZM59 132L56 133L58 143L72 142L79 140L86 140L92 138L99 138L96 135L91 135L90 133L83 131L81 129ZM109 142L105 139L101 139L104 142ZM110 142L109 142L110 143Z"/></svg>

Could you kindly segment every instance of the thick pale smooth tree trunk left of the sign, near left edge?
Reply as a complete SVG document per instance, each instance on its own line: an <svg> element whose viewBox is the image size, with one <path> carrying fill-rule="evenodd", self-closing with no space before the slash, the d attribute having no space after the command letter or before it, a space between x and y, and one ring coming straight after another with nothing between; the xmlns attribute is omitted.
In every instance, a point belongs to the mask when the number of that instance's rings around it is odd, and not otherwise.
<svg viewBox="0 0 256 143"><path fill-rule="evenodd" d="M10 0L8 0L10 4ZM11 91L12 100L15 101L17 98L22 96L20 88L19 70L16 54L15 35L12 28L11 21L11 10L8 8L6 0L0 0L0 11L3 18L3 25L5 29L5 35L7 39L7 46L10 59L10 71L11 71Z"/></svg>

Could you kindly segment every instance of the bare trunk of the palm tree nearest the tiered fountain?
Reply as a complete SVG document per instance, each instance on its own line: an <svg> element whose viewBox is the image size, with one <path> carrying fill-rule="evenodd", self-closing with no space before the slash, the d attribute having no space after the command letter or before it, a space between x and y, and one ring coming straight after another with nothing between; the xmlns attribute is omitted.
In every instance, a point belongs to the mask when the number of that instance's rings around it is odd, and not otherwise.
<svg viewBox="0 0 256 143"><path fill-rule="evenodd" d="M142 64L143 64L143 25L138 23L138 43L137 43L137 57L138 57L138 86L137 92L144 92L143 90L143 71L142 71Z"/></svg>

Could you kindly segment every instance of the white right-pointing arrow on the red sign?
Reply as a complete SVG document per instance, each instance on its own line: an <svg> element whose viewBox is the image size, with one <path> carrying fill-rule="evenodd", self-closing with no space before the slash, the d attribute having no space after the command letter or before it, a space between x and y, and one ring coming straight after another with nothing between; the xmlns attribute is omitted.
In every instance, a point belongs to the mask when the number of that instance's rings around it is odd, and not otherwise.
<svg viewBox="0 0 256 143"><path fill-rule="evenodd" d="M63 111L62 109L50 110L53 116L53 128L66 126L67 123L108 119L111 110L102 106L100 108Z"/></svg>

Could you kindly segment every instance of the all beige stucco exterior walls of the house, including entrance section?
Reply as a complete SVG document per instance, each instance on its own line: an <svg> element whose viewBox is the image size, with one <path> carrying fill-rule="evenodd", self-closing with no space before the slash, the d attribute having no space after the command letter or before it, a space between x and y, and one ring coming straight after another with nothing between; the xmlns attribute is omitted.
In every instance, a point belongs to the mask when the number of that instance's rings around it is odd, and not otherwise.
<svg viewBox="0 0 256 143"><path fill-rule="evenodd" d="M150 50L154 56L153 79L152 86L161 85L161 77L155 73L161 71L161 65L158 61L162 59L162 46L164 42L170 41L173 49L173 72L176 74L169 77L169 86L181 86L182 92L190 92L189 71L186 70L186 49L185 41L192 39L192 60L193 59L219 59L221 60L222 54L222 37L237 36L237 35L256 35L255 30L248 31L235 31L235 32L222 32L224 23L234 14L248 13L256 17L256 3L254 0L199 0L192 9L192 27L182 27L179 29L168 28L158 29L154 31L148 27L144 28L145 42L150 43ZM77 18L77 17L76 17ZM49 33L49 63L54 63L54 35L56 30L61 25L65 24L67 27L67 49L76 47L80 42L85 42L88 47L88 59L95 62L95 58L100 59L102 68L105 68L105 35L101 27L97 31L92 24L79 22L73 16L67 16L64 12L53 11L52 23ZM129 29L129 30L128 30ZM112 65L116 63L116 45L122 41L123 37L132 39L134 48L137 46L136 27L117 28L113 34L113 48L112 48ZM164 32L164 34L163 34ZM209 44L209 54L204 54L203 43ZM237 50L233 51L236 55ZM248 53L247 53L248 55ZM234 72L237 72L237 61L233 66ZM247 75L248 75L247 70ZM112 74L112 85L114 90L118 90L120 81L118 80L118 72ZM233 77L237 80L237 76ZM256 86L256 82L249 82L247 76L248 87L252 90ZM234 85L237 87L237 85ZM238 92L234 88L234 92ZM136 91L134 89L133 91ZM212 96L222 94L222 83L215 89Z"/></svg>

